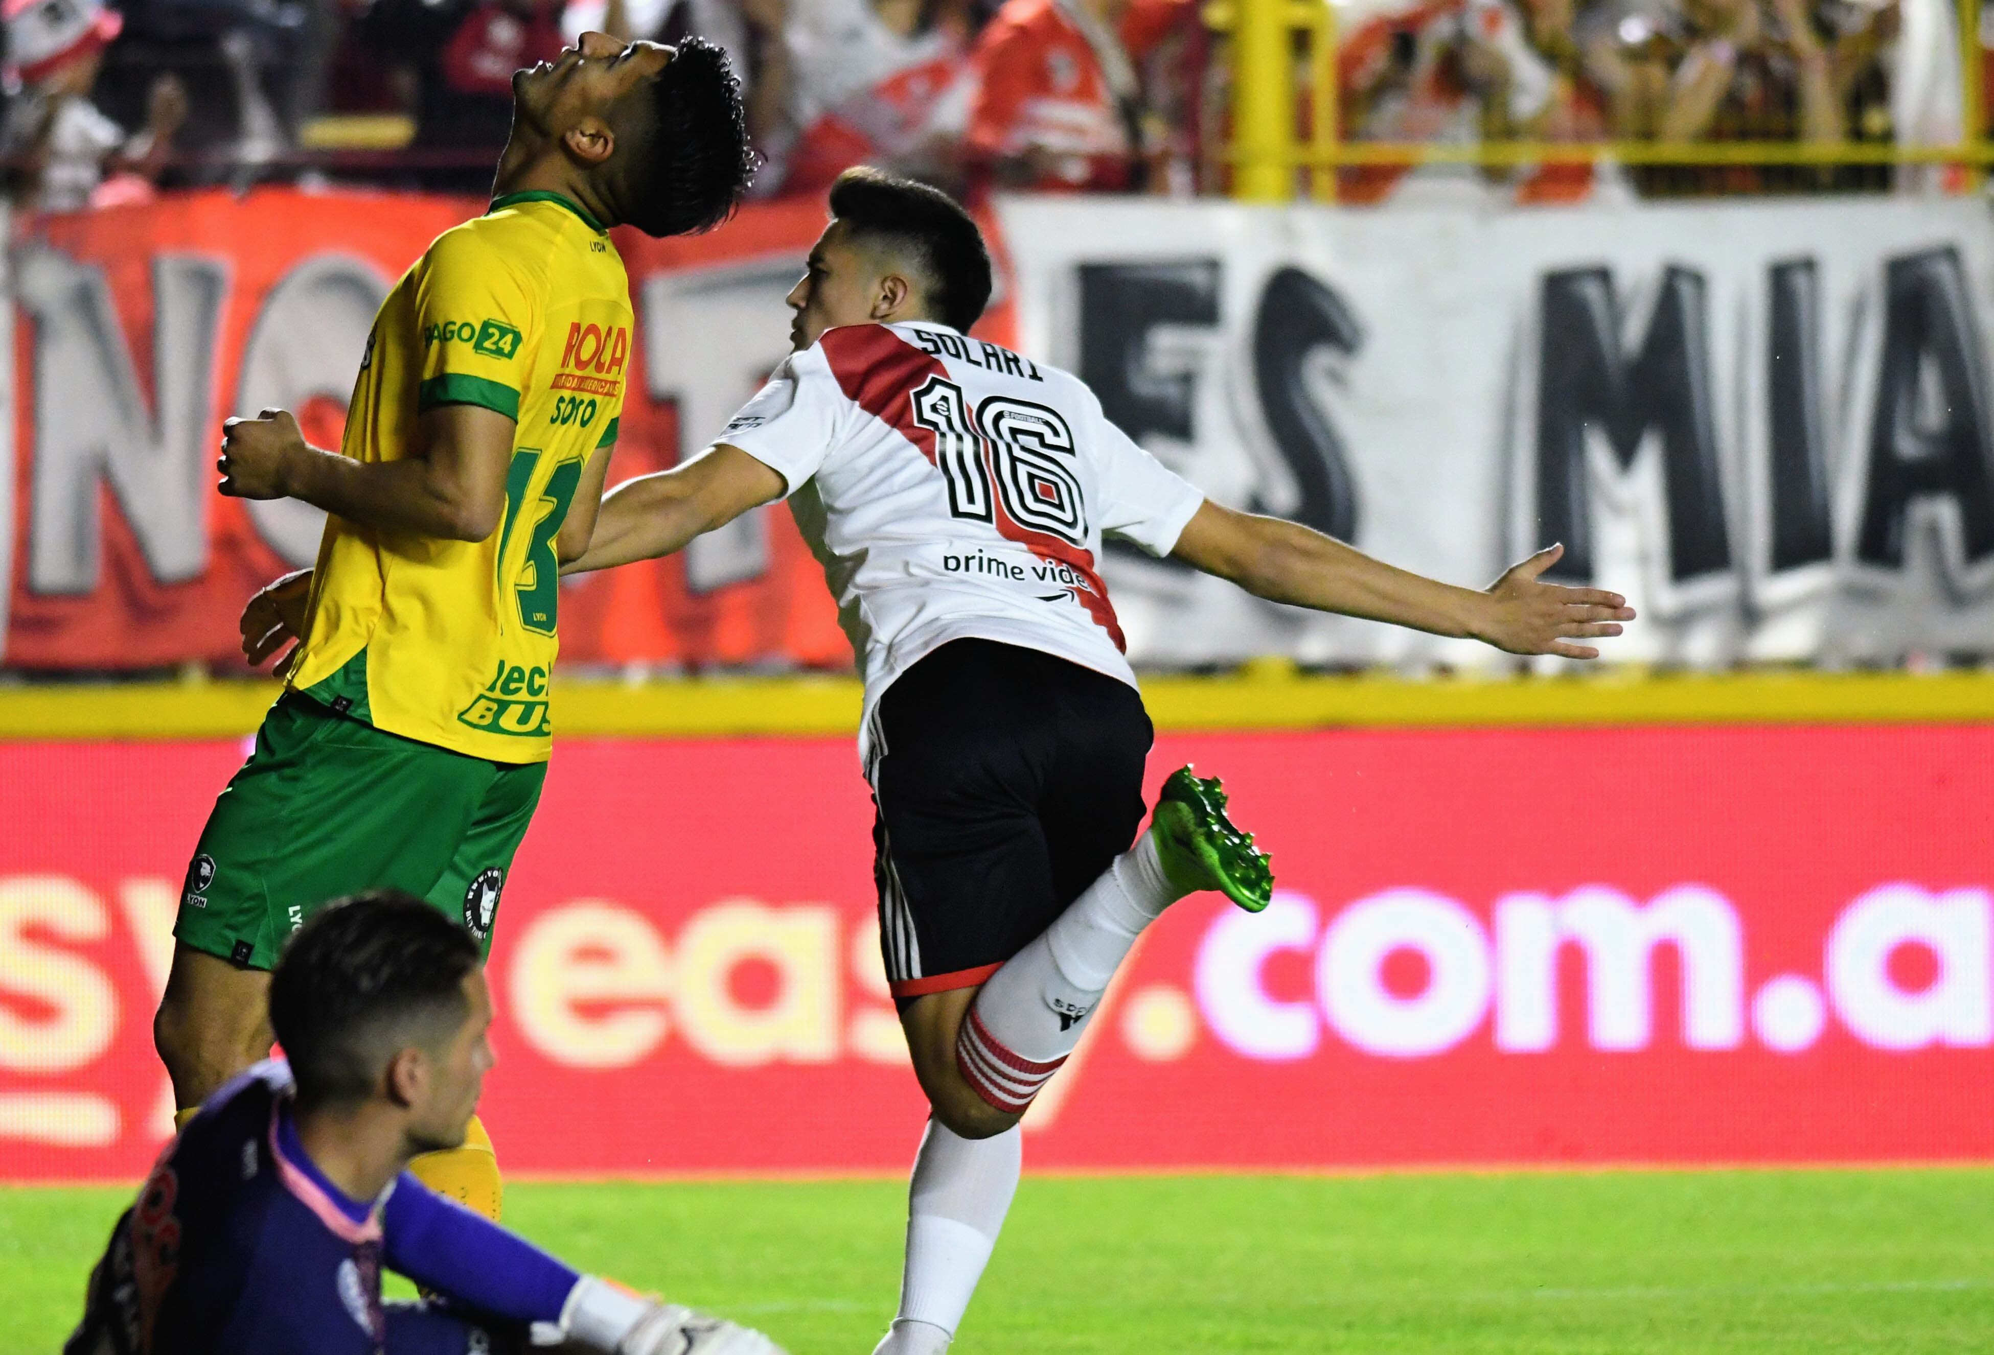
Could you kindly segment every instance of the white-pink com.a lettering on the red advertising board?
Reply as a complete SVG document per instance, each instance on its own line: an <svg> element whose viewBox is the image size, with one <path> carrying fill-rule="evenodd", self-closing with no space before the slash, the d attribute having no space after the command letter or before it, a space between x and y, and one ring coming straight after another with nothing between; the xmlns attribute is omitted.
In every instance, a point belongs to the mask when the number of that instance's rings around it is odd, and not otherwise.
<svg viewBox="0 0 1994 1355"><path fill-rule="evenodd" d="M1226 1048L1258 1062L1310 1058L1332 1036L1400 1060L1484 1038L1517 1056L1573 1044L1803 1054L1828 1036L1830 1020L1874 1050L1994 1044L1986 889L1876 885L1830 923L1819 976L1779 972L1753 988L1745 923L1703 885L1647 901L1607 885L1563 897L1511 893L1488 919L1420 887L1384 889L1334 913L1282 891L1266 913L1226 911L1204 933L1192 984L1198 1010ZM1559 978L1573 972L1559 964L1567 947L1583 956L1577 1030L1559 1028ZM1663 950L1673 950L1681 980L1677 1032L1655 1022ZM1922 976L1906 962L1920 950ZM1268 968L1282 954L1308 962L1308 996L1270 990Z"/></svg>

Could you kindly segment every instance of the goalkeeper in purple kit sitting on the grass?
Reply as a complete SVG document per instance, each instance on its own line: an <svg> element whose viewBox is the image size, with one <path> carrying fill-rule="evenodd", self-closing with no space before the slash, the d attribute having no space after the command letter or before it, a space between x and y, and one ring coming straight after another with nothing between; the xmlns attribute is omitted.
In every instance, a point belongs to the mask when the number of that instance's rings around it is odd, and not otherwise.
<svg viewBox="0 0 1994 1355"><path fill-rule="evenodd" d="M160 1156L64 1355L782 1355L578 1275L405 1172L463 1144L491 1016L477 941L423 901L317 913L269 984L287 1060L215 1092ZM437 1297L383 1303L383 1267Z"/></svg>

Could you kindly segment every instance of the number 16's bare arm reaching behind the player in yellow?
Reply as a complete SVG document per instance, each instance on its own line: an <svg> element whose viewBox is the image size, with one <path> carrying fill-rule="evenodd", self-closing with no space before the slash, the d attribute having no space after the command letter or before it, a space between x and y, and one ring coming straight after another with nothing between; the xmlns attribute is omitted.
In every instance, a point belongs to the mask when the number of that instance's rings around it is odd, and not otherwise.
<svg viewBox="0 0 1994 1355"><path fill-rule="evenodd" d="M782 498L784 480L760 460L722 442L696 460L624 480L602 498L588 550L562 574L656 560L750 508Z"/></svg>

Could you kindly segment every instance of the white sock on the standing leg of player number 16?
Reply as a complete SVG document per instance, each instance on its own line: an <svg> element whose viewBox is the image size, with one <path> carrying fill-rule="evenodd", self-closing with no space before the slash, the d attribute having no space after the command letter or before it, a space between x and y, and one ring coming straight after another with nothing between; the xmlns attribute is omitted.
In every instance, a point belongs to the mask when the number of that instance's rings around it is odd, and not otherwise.
<svg viewBox="0 0 1994 1355"><path fill-rule="evenodd" d="M939 1355L983 1279L1023 1168L1023 1134L961 1138L929 1120L907 1184L899 1315L873 1355Z"/></svg>

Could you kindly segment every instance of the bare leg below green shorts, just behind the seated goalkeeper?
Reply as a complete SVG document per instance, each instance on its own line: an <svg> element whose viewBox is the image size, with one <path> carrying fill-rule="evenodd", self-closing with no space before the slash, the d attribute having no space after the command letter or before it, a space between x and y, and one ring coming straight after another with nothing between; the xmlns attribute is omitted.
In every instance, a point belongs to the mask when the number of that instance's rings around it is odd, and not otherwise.
<svg viewBox="0 0 1994 1355"><path fill-rule="evenodd" d="M185 945L152 1020L152 1042L173 1080L173 1104L199 1108L237 1072L269 1056L269 974Z"/></svg>

